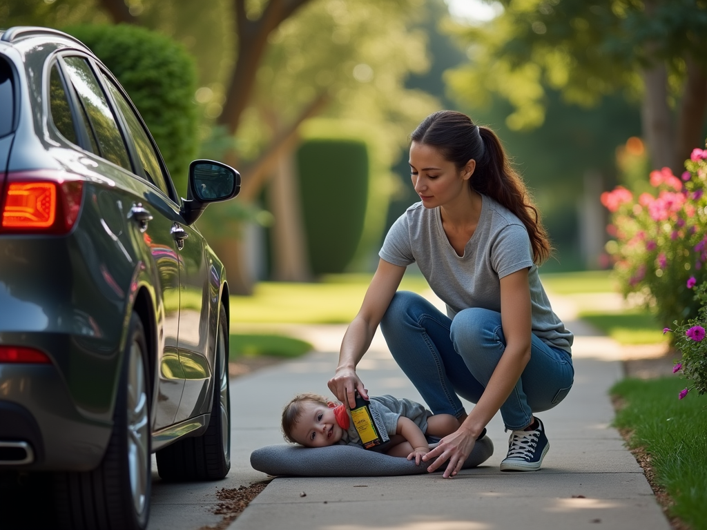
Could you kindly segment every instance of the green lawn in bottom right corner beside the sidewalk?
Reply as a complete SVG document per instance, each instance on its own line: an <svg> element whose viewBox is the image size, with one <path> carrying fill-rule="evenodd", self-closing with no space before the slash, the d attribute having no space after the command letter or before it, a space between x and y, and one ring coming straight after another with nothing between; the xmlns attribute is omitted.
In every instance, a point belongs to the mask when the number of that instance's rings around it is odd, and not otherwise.
<svg viewBox="0 0 707 530"><path fill-rule="evenodd" d="M650 454L655 480L674 500L670 513L692 530L707 530L707 396L690 393L686 381L624 379L612 389L626 406L614 424L631 430L631 447Z"/></svg>

